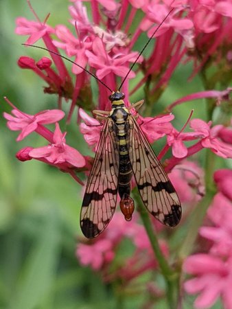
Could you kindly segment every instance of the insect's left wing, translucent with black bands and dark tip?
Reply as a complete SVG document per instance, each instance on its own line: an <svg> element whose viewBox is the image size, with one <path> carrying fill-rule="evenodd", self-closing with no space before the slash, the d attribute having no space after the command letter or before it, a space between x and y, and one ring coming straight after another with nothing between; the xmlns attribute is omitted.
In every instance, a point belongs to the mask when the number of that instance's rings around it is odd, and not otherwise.
<svg viewBox="0 0 232 309"><path fill-rule="evenodd" d="M80 227L86 238L98 236L111 221L117 202L119 150L115 124L107 119L86 184Z"/></svg>

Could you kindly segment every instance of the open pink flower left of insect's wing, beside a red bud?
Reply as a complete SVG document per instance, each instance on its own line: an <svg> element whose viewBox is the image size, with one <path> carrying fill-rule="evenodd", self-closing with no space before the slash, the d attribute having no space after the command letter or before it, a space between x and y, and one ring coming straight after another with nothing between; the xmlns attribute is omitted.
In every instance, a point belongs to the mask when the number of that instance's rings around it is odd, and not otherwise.
<svg viewBox="0 0 232 309"><path fill-rule="evenodd" d="M34 148L29 152L30 157L34 159L45 158L53 164L69 163L76 168L83 167L85 165L84 157L78 150L66 144L65 135L66 133L62 133L59 124L56 123L56 130L53 136L54 144Z"/></svg>

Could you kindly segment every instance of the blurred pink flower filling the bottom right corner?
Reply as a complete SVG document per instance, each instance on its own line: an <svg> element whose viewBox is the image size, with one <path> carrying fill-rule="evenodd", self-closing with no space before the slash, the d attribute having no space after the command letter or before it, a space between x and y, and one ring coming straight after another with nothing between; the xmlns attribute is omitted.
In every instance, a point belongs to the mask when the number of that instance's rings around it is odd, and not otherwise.
<svg viewBox="0 0 232 309"><path fill-rule="evenodd" d="M196 277L185 282L187 293L200 293L195 308L211 308L222 297L225 309L232 308L232 258L221 260L216 256L196 254L187 258L183 269Z"/></svg>

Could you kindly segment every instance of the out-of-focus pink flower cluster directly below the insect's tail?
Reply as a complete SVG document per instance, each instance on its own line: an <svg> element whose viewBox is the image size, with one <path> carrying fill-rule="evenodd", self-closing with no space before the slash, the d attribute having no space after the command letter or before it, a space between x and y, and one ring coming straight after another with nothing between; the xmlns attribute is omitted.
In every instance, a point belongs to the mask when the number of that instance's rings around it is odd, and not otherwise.
<svg viewBox="0 0 232 309"><path fill-rule="evenodd" d="M124 257L119 262L117 257L117 267L111 271L117 248L125 238L130 239L135 247L132 258ZM167 256L168 249L164 241L161 242L161 249ZM130 280L157 267L144 227L137 222L136 216L127 222L119 212L115 213L108 229L97 240L89 244L79 243L76 255L82 265L89 265L95 271L101 270L104 280L111 282L124 279L128 284Z"/></svg>

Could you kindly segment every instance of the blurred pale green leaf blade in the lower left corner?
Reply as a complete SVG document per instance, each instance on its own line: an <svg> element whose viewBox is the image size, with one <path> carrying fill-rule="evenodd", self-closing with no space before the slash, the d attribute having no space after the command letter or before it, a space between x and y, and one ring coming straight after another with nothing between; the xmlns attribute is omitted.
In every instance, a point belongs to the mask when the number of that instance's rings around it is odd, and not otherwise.
<svg viewBox="0 0 232 309"><path fill-rule="evenodd" d="M10 309L38 308L49 295L56 279L56 266L60 258L59 239L57 217L54 211L48 211L38 240L25 260Z"/></svg>

